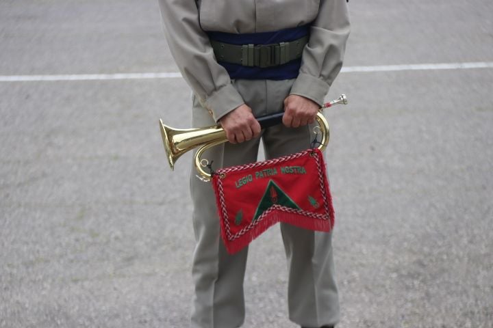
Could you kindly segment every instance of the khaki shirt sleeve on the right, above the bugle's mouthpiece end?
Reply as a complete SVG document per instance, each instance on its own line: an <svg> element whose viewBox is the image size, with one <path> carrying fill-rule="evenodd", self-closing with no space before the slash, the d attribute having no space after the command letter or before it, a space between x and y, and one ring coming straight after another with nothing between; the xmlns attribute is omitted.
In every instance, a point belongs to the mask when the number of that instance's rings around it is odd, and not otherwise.
<svg viewBox="0 0 493 328"><path fill-rule="evenodd" d="M303 50L299 76L290 94L314 100L322 106L337 74L349 36L346 0L320 0L318 15L310 28L309 42Z"/></svg>

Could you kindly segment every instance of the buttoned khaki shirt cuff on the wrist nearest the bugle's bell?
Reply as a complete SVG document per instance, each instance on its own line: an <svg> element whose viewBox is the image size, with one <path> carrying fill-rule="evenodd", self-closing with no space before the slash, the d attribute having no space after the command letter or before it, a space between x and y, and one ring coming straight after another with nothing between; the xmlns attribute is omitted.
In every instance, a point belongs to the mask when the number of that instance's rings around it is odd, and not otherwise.
<svg viewBox="0 0 493 328"><path fill-rule="evenodd" d="M216 122L224 115L243 105L244 100L231 83L216 90L202 102Z"/></svg>

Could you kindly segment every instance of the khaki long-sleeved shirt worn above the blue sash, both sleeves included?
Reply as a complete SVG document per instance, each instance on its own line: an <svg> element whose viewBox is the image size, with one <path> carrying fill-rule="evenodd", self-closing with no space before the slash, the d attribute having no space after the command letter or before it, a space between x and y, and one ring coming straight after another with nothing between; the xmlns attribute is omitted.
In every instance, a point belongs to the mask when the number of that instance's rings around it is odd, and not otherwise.
<svg viewBox="0 0 493 328"><path fill-rule="evenodd" d="M220 66L205 31L277 31L312 22L291 94L323 105L342 67L349 15L346 0L159 0L176 64L216 122L244 103Z"/></svg>

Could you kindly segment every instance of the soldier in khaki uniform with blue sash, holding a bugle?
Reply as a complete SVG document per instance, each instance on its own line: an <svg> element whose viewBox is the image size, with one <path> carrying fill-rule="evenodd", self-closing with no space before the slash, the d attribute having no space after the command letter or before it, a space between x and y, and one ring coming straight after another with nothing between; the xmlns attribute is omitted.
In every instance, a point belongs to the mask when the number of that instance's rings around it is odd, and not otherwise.
<svg viewBox="0 0 493 328"><path fill-rule="evenodd" d="M310 126L342 67L349 36L345 0L160 0L169 49L193 91L194 127L219 123L229 143L210 150L215 167L310 147ZM261 131L255 117L284 111L283 124ZM197 241L192 327L244 322L248 247L227 254L212 186L190 181ZM333 327L339 320L331 233L281 223L288 258L290 320Z"/></svg>

